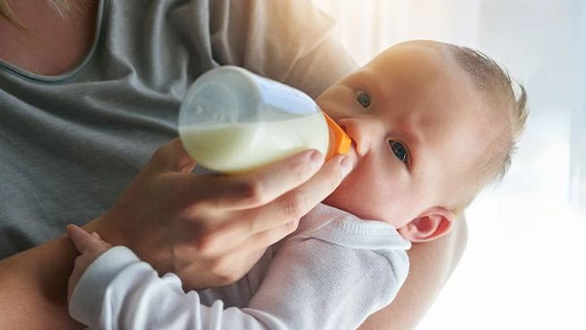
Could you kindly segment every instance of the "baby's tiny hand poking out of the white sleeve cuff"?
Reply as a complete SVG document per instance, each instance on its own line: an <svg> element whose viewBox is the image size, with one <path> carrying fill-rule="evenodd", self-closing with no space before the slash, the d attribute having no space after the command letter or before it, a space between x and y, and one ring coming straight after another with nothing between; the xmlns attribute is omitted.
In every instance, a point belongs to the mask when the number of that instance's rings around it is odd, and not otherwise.
<svg viewBox="0 0 586 330"><path fill-rule="evenodd" d="M80 256L75 258L75 265L73 266L73 272L69 276L69 282L67 283L67 301L71 299L73 289L80 281L82 274L90 266L90 264L98 258L102 253L106 252L108 248L112 247L105 241L99 238L97 232L93 232L91 235L82 230L80 227L70 224L66 228L67 236L73 241L73 245L80 253Z"/></svg>

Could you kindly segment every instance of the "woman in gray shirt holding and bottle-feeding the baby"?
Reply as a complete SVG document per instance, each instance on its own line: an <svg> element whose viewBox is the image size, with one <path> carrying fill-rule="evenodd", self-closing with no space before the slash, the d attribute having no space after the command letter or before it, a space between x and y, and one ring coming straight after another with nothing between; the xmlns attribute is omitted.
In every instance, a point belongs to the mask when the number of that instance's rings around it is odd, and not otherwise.
<svg viewBox="0 0 586 330"><path fill-rule="evenodd" d="M320 167L308 151L245 175L193 174L177 143L165 144L177 135L186 88L215 65L241 65L314 97L354 70L332 20L308 2L0 0L0 8L2 328L79 327L65 303L75 256L59 237L66 223L133 248L160 273L179 274L185 289L219 286L245 274L349 170L343 158ZM465 238L461 226L413 247L399 296L363 328L415 326Z"/></svg>

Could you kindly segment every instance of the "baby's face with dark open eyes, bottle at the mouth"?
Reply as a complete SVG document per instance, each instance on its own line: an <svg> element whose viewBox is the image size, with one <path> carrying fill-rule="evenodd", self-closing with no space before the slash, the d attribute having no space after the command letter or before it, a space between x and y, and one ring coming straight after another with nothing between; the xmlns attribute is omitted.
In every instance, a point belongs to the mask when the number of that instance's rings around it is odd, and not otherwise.
<svg viewBox="0 0 586 330"><path fill-rule="evenodd" d="M354 141L355 168L324 203L397 228L457 204L471 160L485 150L485 105L438 43L390 48L317 103Z"/></svg>

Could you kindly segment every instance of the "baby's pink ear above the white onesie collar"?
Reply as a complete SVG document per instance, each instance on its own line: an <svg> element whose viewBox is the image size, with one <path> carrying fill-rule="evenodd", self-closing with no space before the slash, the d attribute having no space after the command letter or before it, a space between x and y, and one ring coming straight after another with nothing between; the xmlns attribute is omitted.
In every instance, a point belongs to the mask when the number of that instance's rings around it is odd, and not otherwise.
<svg viewBox="0 0 586 330"><path fill-rule="evenodd" d="M432 207L399 229L404 239L414 243L440 238L452 230L454 214L444 207Z"/></svg>

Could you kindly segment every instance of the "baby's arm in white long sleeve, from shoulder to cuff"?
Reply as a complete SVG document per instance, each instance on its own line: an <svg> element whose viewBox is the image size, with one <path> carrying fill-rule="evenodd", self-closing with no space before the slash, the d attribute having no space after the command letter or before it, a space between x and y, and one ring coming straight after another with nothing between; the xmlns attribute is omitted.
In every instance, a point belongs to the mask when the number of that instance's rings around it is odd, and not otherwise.
<svg viewBox="0 0 586 330"><path fill-rule="evenodd" d="M70 311L100 329L356 328L392 300L404 280L393 273L388 254L293 238L271 262L249 308L225 309L220 300L203 306L197 292L182 290L176 275L161 278L129 249L114 247L82 275Z"/></svg>

